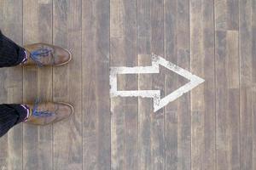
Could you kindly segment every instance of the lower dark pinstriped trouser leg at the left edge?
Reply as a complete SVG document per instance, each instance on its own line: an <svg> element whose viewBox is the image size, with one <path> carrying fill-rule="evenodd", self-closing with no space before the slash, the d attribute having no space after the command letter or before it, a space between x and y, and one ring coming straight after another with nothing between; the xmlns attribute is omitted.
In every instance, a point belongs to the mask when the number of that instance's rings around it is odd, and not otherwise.
<svg viewBox="0 0 256 170"><path fill-rule="evenodd" d="M25 105L0 105L0 138L20 122L25 122L29 110Z"/></svg>

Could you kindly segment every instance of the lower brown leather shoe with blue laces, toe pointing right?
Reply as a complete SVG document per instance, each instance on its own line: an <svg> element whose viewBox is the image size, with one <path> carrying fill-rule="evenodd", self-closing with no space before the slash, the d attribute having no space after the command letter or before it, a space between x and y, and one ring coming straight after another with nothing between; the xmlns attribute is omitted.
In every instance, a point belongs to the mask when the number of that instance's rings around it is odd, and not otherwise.
<svg viewBox="0 0 256 170"><path fill-rule="evenodd" d="M27 106L30 108L30 116L26 122L35 125L60 122L73 115L73 106L63 102L45 102Z"/></svg>

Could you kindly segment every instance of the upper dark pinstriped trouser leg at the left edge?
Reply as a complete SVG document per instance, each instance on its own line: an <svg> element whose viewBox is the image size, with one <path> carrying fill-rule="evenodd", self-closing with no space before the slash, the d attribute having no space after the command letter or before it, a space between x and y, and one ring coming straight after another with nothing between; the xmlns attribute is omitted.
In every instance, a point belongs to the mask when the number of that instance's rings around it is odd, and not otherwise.
<svg viewBox="0 0 256 170"><path fill-rule="evenodd" d="M25 48L21 48L0 31L0 68L20 65L26 58Z"/></svg>

